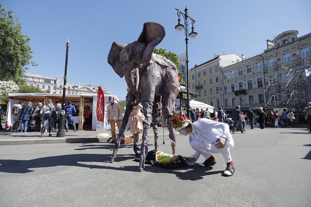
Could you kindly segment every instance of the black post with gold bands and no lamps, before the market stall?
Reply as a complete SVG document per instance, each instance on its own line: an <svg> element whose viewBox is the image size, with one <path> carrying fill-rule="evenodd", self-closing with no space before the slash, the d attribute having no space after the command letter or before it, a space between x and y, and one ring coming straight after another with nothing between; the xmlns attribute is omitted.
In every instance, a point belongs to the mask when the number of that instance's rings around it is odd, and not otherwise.
<svg viewBox="0 0 311 207"><path fill-rule="evenodd" d="M66 80L67 80L67 64L68 64L68 52L69 52L69 38L66 44L66 61L65 61L65 75L64 75L64 85L63 85L63 101L62 101L62 111L59 116L58 132L56 137L65 137L65 96L66 96Z"/></svg>

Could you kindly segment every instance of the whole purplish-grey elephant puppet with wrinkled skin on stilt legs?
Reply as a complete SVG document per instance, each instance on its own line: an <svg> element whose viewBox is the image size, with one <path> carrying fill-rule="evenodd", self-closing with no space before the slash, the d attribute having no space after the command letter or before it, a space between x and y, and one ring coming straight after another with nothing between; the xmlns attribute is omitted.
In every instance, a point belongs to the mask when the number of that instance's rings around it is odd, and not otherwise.
<svg viewBox="0 0 311 207"><path fill-rule="evenodd" d="M162 25L155 22L146 22L137 41L128 45L114 42L108 55L108 63L121 78L125 77L130 91L123 123L114 146L111 161L117 155L121 137L133 106L142 101L145 120L143 121L140 170L144 168L145 157L148 152L148 129L151 121L154 119L155 122L159 122L161 109L162 115L166 119L173 115L173 103L179 86L176 65L165 57L153 53L154 48L163 40L164 36L165 29ZM173 154L176 154L176 136L173 124L169 123L167 128ZM153 125L153 129L157 141L156 125ZM158 148L157 145L156 142L156 148Z"/></svg>

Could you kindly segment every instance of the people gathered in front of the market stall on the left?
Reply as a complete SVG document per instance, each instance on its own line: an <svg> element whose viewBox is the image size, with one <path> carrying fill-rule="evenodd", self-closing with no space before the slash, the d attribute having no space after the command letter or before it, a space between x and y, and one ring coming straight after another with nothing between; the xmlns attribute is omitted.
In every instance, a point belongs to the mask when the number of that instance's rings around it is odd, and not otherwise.
<svg viewBox="0 0 311 207"><path fill-rule="evenodd" d="M44 103L39 102L33 106L32 102L19 101L14 104L12 108L13 123L10 127L11 132L41 132L40 137L43 137L44 132L49 132L49 137L52 137L52 129L58 131L60 114L62 110L61 103L53 103L51 99L46 99ZM84 107L85 128L91 128L91 108L90 106ZM77 109L71 101L65 106L65 129L69 131L68 123L72 124L73 131L77 131L73 116L77 114ZM21 129L19 126L21 125Z"/></svg>

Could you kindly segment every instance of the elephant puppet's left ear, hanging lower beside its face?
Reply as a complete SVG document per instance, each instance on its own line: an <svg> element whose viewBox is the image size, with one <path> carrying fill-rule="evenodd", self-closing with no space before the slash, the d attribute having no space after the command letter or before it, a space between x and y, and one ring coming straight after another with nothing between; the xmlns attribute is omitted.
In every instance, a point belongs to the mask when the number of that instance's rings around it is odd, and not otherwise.
<svg viewBox="0 0 311 207"><path fill-rule="evenodd" d="M123 43L117 43L114 42L111 45L111 49L109 51L108 55L108 63L111 65L111 67L114 69L114 72L116 72L121 78L124 76L122 71L122 64L120 61L120 52L123 50L123 48L126 46L126 44Z"/></svg>

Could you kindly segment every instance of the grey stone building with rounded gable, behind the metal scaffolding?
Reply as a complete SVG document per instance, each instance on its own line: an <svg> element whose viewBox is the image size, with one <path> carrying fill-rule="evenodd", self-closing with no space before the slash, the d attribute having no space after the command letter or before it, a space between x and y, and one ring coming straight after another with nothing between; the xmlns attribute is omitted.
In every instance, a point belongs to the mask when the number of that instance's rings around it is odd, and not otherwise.
<svg viewBox="0 0 311 207"><path fill-rule="evenodd" d="M267 40L267 49L260 55L223 67L224 109L230 113L236 105L242 110L306 106L304 62L311 60L310 45L311 33L298 37L296 30L285 31Z"/></svg>

